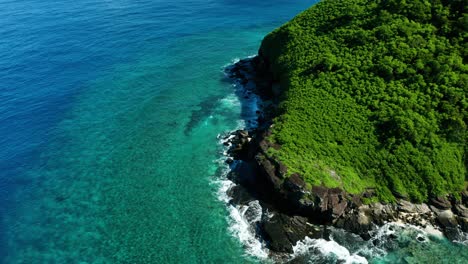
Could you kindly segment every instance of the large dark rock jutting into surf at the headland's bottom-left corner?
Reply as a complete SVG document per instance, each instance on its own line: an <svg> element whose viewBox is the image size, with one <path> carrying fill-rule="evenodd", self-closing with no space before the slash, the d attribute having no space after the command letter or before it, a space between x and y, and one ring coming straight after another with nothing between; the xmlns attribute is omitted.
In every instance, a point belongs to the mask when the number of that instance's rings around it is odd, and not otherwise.
<svg viewBox="0 0 468 264"><path fill-rule="evenodd" d="M277 252L292 253L293 245L306 236L318 238L323 230L316 230L307 223L307 218L276 213L262 223L262 231L268 247Z"/></svg>

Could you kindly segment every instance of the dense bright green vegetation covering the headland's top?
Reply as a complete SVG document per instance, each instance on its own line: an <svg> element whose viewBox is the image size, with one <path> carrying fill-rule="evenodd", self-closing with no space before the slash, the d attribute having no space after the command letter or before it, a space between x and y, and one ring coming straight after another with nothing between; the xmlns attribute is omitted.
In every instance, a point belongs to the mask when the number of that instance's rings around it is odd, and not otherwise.
<svg viewBox="0 0 468 264"><path fill-rule="evenodd" d="M270 154L311 185L425 201L464 188L466 0L324 0L263 41Z"/></svg>

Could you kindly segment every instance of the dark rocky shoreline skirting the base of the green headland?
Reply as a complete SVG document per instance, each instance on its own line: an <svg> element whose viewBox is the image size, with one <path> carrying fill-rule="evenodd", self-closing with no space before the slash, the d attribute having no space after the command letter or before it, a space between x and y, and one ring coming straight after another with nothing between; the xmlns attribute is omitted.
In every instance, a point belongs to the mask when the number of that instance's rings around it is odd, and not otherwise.
<svg viewBox="0 0 468 264"><path fill-rule="evenodd" d="M254 224L256 236L265 241L270 254L285 257L305 237L329 237L334 226L370 238L370 232L387 222L435 228L455 240L468 232L468 193L461 201L438 197L428 204L413 204L404 199L396 204L364 204L374 195L372 189L359 195L339 188L307 188L297 174L287 176L287 168L268 155L267 140L273 117L277 115L280 87L270 76L267 60L261 56L241 60L226 69L229 78L244 88L240 96L262 99L255 126L237 130L222 138L228 148L228 178L236 185L228 190L234 205L248 205L258 200L262 215ZM465 234L463 233L465 232Z"/></svg>

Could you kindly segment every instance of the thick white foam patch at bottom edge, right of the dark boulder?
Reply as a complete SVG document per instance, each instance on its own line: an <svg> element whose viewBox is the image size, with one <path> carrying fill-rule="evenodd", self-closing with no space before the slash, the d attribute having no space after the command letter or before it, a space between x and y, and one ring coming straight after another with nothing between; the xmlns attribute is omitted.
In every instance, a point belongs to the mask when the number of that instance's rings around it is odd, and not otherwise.
<svg viewBox="0 0 468 264"><path fill-rule="evenodd" d="M333 256L336 259L342 261L342 263L368 263L364 257L357 254L351 254L348 249L341 246L337 242L325 239L311 239L306 237L304 240L297 242L293 247L292 257L307 254L312 250L318 250L324 256Z"/></svg>

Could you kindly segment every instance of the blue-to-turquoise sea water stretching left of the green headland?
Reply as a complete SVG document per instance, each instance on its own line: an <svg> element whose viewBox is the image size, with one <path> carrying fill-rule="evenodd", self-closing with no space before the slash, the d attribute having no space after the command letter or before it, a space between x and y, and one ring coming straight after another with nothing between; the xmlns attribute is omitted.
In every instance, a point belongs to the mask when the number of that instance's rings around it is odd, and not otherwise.
<svg viewBox="0 0 468 264"><path fill-rule="evenodd" d="M218 197L222 69L314 2L1 1L0 262L257 262Z"/></svg>

